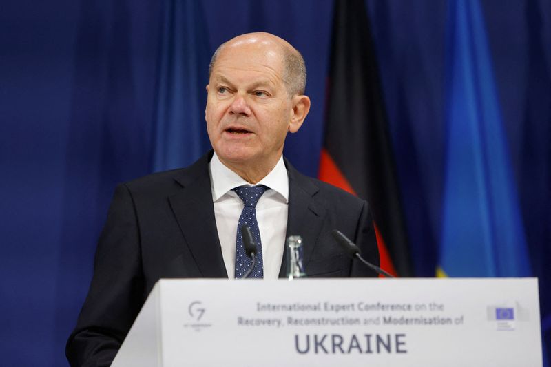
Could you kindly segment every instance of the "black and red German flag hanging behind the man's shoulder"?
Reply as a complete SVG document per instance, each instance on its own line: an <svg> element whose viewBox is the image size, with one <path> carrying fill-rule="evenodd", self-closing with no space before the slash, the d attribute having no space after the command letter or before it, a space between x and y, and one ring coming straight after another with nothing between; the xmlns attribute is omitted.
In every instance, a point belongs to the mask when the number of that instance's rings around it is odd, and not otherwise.
<svg viewBox="0 0 551 367"><path fill-rule="evenodd" d="M335 1L320 180L366 198L382 269L413 276L377 61L363 0Z"/></svg>

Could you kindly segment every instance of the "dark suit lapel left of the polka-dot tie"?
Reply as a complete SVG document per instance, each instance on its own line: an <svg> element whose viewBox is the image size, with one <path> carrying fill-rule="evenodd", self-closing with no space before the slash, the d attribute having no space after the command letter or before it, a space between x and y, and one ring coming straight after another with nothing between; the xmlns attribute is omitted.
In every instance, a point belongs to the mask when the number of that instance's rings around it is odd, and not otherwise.
<svg viewBox="0 0 551 367"><path fill-rule="evenodd" d="M169 197L178 225L202 277L227 277L212 202L208 161L211 154L189 167L176 181L183 186Z"/></svg>

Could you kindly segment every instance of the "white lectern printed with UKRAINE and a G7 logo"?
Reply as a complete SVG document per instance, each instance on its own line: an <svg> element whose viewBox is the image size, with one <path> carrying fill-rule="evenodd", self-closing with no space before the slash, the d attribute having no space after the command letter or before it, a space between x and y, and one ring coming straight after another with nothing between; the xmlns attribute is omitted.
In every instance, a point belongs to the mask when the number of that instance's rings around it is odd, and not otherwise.
<svg viewBox="0 0 551 367"><path fill-rule="evenodd" d="M112 366L542 366L537 279L160 280Z"/></svg>

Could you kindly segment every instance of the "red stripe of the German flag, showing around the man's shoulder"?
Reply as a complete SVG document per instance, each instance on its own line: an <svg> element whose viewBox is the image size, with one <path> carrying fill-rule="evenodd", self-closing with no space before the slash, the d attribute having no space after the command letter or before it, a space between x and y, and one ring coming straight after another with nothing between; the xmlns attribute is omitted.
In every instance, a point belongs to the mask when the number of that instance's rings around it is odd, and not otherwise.
<svg viewBox="0 0 551 367"><path fill-rule="evenodd" d="M346 180L346 177L344 177L339 167L335 164L333 158L331 158L325 149L322 149L322 154L320 157L320 173L318 174L318 177L324 182L340 187L344 191L357 196L349 181ZM381 269L396 276L396 269L394 268L390 255L388 255L388 250L386 249L386 244L384 243L381 232L377 228L377 224L375 224L375 222L373 222L373 226L375 227L375 236L377 237L377 247L379 248L379 261ZM380 275L380 277L383 276Z"/></svg>

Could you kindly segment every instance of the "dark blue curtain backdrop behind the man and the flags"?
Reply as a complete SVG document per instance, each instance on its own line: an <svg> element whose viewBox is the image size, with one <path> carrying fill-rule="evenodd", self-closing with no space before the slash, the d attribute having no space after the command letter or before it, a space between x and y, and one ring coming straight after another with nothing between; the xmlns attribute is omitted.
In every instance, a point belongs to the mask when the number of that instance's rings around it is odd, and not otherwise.
<svg viewBox="0 0 551 367"><path fill-rule="evenodd" d="M154 170L158 145L152 137L170 3L19 0L0 5L3 366L66 365L65 340L90 282L114 185ZM304 54L313 107L301 131L289 138L286 154L298 169L316 176L333 1L183 3L204 17L187 21L195 21L196 39L204 41L209 54L232 36L258 30L282 36ZM415 272L432 276L445 165L448 3L366 4ZM543 333L549 338L551 3L482 4L532 270L540 277L541 309L547 315ZM203 68L200 84L206 85L207 65L198 67ZM204 124L200 116L188 117L183 124L189 129ZM183 157L183 164L194 158Z"/></svg>

